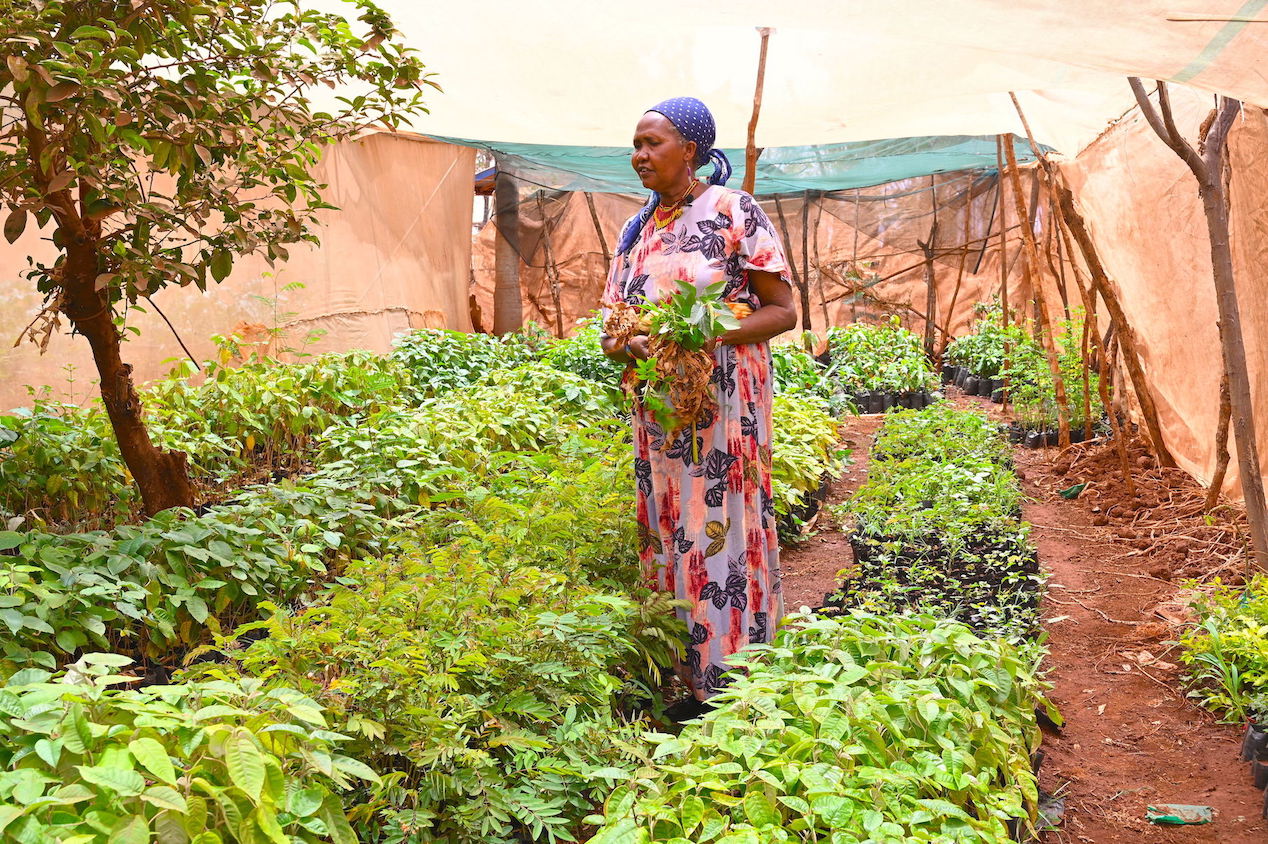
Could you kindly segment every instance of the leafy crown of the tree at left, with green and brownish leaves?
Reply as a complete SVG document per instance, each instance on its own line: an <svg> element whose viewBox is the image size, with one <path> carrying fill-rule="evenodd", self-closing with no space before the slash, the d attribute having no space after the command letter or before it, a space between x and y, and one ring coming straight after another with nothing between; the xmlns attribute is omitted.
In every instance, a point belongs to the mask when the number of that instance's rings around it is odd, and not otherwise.
<svg viewBox="0 0 1268 844"><path fill-rule="evenodd" d="M0 153L5 234L16 240L28 215L53 219L53 242L93 260L86 278L36 262L41 291L87 284L136 302L221 281L238 255L284 260L284 243L314 241L328 208L313 176L322 146L399 124L432 84L382 10L354 8L360 34L289 1L5 4L3 114L19 127ZM317 110L309 96L327 84L360 91Z"/></svg>

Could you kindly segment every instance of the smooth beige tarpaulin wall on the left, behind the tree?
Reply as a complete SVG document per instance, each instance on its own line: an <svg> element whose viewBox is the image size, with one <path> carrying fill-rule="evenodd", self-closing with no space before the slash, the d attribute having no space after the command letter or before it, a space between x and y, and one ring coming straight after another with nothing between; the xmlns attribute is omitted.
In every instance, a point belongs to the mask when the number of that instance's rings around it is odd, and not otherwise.
<svg viewBox="0 0 1268 844"><path fill-rule="evenodd" d="M205 294L169 288L155 303L200 360L214 354L212 335L231 332L266 340L284 329L274 348L318 352L387 351L394 333L422 326L467 331L474 155L415 134L375 133L331 147L318 177L340 210L322 214L320 247L293 247L271 270L246 259ZM19 278L28 255L52 257L39 234L30 227L13 246L0 241L0 409L23 404L27 385L72 400L96 394L82 338L57 335L44 355L30 343L11 347L41 307ZM303 286L285 290L295 283ZM124 347L139 381L183 356L155 309L142 308L148 313L128 317L141 336Z"/></svg>

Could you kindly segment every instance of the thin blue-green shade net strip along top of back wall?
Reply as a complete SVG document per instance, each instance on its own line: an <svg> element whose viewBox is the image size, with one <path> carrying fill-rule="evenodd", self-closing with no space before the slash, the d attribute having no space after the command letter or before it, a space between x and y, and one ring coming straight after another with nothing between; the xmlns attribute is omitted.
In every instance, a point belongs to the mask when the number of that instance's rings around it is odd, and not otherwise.
<svg viewBox="0 0 1268 844"><path fill-rule="evenodd" d="M487 150L497 167L522 182L552 190L602 194L644 194L630 169L628 147L571 147L437 138ZM1018 162L1033 161L1026 141L1014 137ZM735 169L728 185L744 179L744 151L725 150ZM937 136L855 141L808 147L768 147L757 160L758 196L805 190L832 191L883 185L913 176L959 170L994 170L995 136ZM702 175L711 172L701 169Z"/></svg>

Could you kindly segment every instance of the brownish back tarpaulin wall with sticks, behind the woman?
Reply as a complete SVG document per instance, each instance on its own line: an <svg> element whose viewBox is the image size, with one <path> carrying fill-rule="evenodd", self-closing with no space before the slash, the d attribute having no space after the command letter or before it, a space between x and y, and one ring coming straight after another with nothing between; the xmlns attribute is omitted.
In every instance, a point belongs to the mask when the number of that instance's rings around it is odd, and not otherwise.
<svg viewBox="0 0 1268 844"><path fill-rule="evenodd" d="M1023 185L1030 201L1028 172L1023 174ZM602 242L585 194L525 193L520 204L517 252L525 319L555 333L559 326L569 333L577 319L598 307L606 272L604 247L612 250L621 224L639 208L639 199L633 196L592 194L588 199L598 217ZM909 328L923 332L928 288L922 241L932 243L938 348L946 336L969 331L976 303L999 294L1000 223L994 174L941 174L860 190L762 199L761 204L776 229L786 232L785 251L798 276L809 267L809 312L820 337L827 326L874 321L888 313L899 314ZM1011 200L1006 212L1011 303L1022 303L1028 314L1031 293L1017 261L1019 228ZM553 264L543 238L543 213L549 223ZM803 213L808 229L804 250ZM1046 224L1046 208L1038 201L1036 229L1041 241ZM472 256L476 299L486 329L492 326L497 237L497 226L486 226ZM1058 318L1061 298L1055 286L1050 297ZM1073 302L1078 303L1077 293Z"/></svg>

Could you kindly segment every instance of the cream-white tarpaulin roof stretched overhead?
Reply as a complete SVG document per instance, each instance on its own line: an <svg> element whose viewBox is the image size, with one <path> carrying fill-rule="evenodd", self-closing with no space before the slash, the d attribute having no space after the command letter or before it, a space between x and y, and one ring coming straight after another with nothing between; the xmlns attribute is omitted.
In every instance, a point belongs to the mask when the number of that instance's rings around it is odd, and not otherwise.
<svg viewBox="0 0 1268 844"><path fill-rule="evenodd" d="M1019 132L1014 90L1074 155L1131 108L1129 75L1268 105L1268 0L378 3L445 89L413 128L484 141L626 146L644 109L692 95L742 147L754 27L775 28L763 147Z"/></svg>

